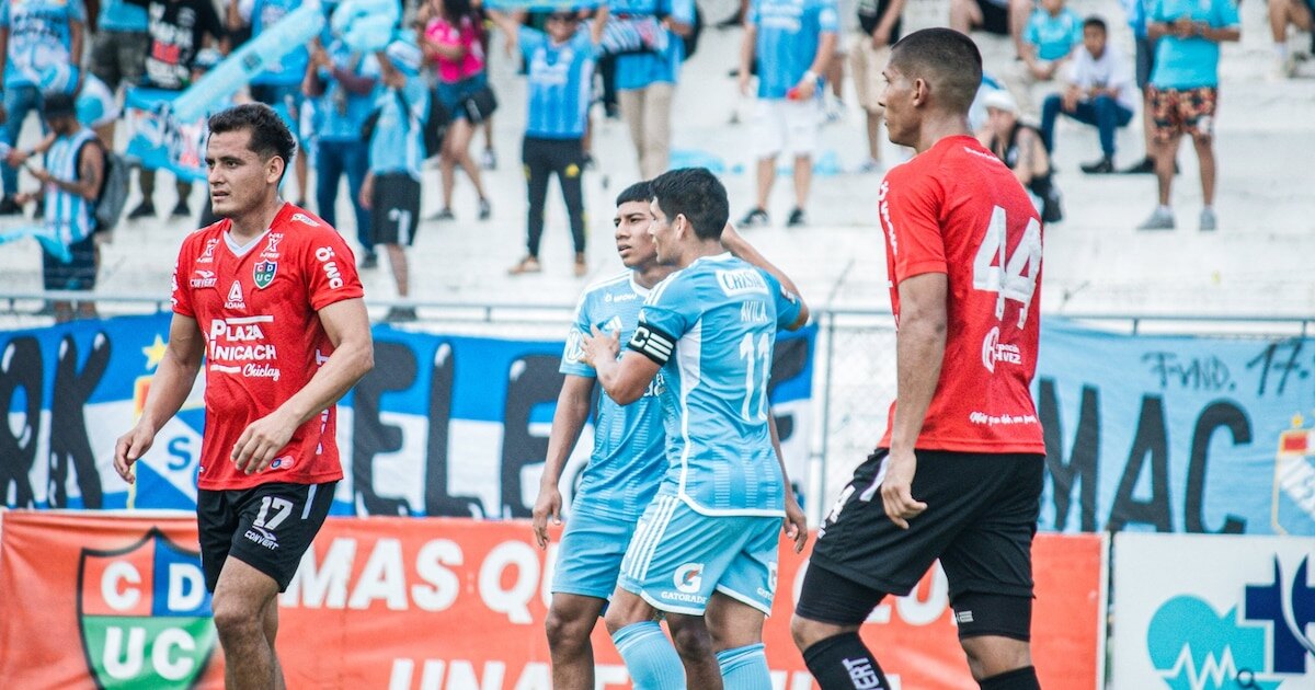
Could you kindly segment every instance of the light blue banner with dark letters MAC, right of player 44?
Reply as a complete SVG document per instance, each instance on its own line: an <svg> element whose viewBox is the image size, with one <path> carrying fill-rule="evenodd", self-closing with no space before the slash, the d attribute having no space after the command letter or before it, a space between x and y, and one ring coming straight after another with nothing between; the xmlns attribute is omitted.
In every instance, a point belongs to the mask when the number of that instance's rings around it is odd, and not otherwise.
<svg viewBox="0 0 1315 690"><path fill-rule="evenodd" d="M1315 340L1047 319L1043 530L1315 535Z"/></svg>

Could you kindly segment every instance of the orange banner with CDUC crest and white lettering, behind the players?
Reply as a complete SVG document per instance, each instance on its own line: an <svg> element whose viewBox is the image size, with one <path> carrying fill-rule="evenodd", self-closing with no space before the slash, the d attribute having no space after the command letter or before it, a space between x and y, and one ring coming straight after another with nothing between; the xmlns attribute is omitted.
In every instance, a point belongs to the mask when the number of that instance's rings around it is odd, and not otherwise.
<svg viewBox="0 0 1315 690"><path fill-rule="evenodd" d="M32 690L221 687L191 517L4 514L0 678ZM1047 689L1102 676L1103 541L1040 535L1034 656ZM547 690L555 548L523 522L334 518L280 598L288 686ZM789 635L803 559L782 548L765 641L776 690L817 687ZM939 568L864 628L896 687L973 689ZM600 687L629 687L594 631ZM897 681L898 678L898 681Z"/></svg>

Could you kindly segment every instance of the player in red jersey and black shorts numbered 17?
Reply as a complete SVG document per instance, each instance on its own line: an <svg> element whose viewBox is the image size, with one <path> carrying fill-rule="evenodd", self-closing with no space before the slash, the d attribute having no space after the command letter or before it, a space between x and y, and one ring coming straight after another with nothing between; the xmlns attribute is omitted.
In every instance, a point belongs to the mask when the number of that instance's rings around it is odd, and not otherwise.
<svg viewBox="0 0 1315 690"><path fill-rule="evenodd" d="M279 198L296 143L267 105L210 117L205 163L224 219L183 241L168 351L114 469L133 463L187 400L205 355L196 514L225 685L283 687L276 595L287 589L342 478L334 402L373 365L351 250Z"/></svg>

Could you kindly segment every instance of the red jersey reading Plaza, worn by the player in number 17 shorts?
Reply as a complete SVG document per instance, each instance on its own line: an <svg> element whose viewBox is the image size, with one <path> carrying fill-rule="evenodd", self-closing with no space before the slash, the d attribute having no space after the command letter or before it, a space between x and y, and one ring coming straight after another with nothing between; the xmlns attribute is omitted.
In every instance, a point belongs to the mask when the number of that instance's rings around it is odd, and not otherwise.
<svg viewBox="0 0 1315 690"><path fill-rule="evenodd" d="M262 473L238 472L230 453L247 425L305 388L333 354L318 310L363 294L351 250L337 230L292 204L245 247L230 226L222 219L188 235L174 269L174 311L195 318L205 338L197 486L341 480L334 406L301 425Z"/></svg>

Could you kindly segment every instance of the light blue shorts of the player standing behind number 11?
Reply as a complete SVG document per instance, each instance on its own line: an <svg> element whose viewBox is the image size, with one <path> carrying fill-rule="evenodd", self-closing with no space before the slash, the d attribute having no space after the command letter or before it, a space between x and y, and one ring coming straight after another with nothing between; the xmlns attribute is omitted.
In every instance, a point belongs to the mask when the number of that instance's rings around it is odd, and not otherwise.
<svg viewBox="0 0 1315 690"><path fill-rule="evenodd" d="M598 599L611 598L626 544L635 532L635 523L619 518L575 513L567 519L562 545L558 547L554 594L579 594Z"/></svg>

